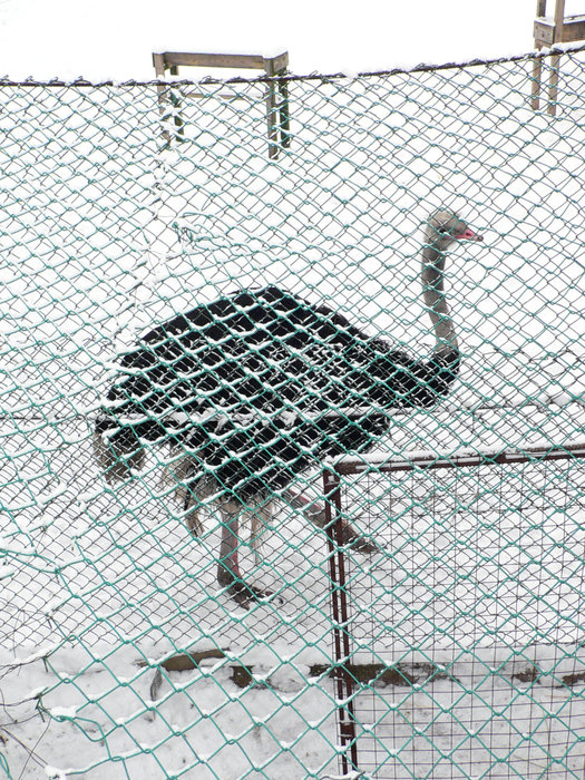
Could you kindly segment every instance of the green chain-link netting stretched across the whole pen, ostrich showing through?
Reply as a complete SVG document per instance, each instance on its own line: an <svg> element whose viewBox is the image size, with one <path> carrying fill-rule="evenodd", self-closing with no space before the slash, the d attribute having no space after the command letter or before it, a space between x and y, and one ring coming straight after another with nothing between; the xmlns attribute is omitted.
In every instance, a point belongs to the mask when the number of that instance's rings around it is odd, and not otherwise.
<svg viewBox="0 0 585 780"><path fill-rule="evenodd" d="M0 82L13 777L583 776L585 74L552 117L533 61L269 123L270 79Z"/></svg>

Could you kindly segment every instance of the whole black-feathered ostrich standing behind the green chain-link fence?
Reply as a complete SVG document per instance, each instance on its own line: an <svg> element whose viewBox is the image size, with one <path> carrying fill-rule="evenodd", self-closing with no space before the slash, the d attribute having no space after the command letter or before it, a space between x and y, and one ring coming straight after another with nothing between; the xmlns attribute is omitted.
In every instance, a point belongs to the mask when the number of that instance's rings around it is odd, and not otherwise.
<svg viewBox="0 0 585 780"><path fill-rule="evenodd" d="M325 457L371 448L391 410L428 408L447 396L460 353L443 292L445 252L461 240L482 237L450 211L428 217L421 283L436 345L423 360L276 286L240 291L152 330L121 357L96 422L106 478L139 470L147 442L167 445L194 534L203 499L217 504L220 585L245 608L272 595L241 576L240 516L270 519L271 498L281 495L323 526L324 513L313 506L311 514L290 487L299 475ZM371 552L349 524L345 537Z"/></svg>

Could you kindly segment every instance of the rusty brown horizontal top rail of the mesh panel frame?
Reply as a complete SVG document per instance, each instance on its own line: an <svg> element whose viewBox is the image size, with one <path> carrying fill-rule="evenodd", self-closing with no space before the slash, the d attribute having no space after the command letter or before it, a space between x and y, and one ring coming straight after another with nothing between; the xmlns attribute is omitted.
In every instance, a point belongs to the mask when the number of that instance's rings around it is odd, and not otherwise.
<svg viewBox="0 0 585 780"><path fill-rule="evenodd" d="M456 452L450 456L437 454L413 454L410 457L393 458L376 455L347 457L329 467L335 475L359 474L362 471L415 471L417 469L471 468L474 466L511 466L544 460L568 460L585 458L585 441L571 445L540 445L524 449L489 450L485 452Z"/></svg>

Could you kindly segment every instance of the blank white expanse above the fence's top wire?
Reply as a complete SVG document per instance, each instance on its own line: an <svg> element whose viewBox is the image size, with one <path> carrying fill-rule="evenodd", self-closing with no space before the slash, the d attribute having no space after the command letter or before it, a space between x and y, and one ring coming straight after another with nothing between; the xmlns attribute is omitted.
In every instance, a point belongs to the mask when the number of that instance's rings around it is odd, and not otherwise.
<svg viewBox="0 0 585 780"><path fill-rule="evenodd" d="M164 50L287 49L296 74L499 57L533 48L535 8L535 0L0 0L0 75L149 79L152 52ZM567 0L566 12L585 12L585 0Z"/></svg>

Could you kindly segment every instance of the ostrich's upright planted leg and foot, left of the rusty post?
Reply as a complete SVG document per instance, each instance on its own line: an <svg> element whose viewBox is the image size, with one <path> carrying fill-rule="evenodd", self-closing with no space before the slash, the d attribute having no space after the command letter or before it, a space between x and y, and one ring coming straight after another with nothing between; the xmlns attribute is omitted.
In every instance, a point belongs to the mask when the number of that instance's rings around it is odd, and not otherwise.
<svg viewBox="0 0 585 780"><path fill-rule="evenodd" d="M225 501L220 508L222 516L222 544L220 547L220 562L217 564L217 582L232 598L244 610L250 610L252 602L272 596L271 591L261 591L248 585L242 579L237 562L237 548L240 547L238 524L242 507L235 501Z"/></svg>

